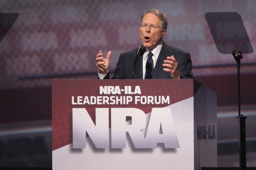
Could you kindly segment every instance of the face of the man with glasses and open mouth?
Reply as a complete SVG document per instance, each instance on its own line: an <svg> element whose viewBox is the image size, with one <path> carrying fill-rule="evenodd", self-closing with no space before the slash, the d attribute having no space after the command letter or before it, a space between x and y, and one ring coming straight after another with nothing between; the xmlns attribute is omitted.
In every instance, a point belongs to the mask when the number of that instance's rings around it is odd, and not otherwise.
<svg viewBox="0 0 256 170"><path fill-rule="evenodd" d="M142 19L142 25L153 25L155 27L162 27L160 19L152 13L148 13ZM166 29L159 28L158 31L153 31L150 26L147 28L140 28L140 39L142 44L149 50L153 50L158 44L160 44L162 38L165 36Z"/></svg>

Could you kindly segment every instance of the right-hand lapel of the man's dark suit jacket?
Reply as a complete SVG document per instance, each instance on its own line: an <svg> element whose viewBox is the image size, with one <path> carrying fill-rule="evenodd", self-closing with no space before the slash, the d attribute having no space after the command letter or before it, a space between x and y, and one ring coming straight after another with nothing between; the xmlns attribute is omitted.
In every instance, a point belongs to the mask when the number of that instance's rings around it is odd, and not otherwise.
<svg viewBox="0 0 256 170"><path fill-rule="evenodd" d="M169 48L168 48L168 45L165 44L165 42L163 42L163 46L161 48L161 51L159 53L159 56L157 58L157 61L156 61L156 65L155 65L155 68L154 68L154 71L153 71L153 77L152 78L158 78L160 72L163 70L164 66L164 60L167 59L168 55L169 55Z"/></svg>

